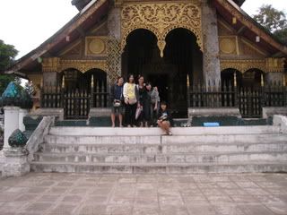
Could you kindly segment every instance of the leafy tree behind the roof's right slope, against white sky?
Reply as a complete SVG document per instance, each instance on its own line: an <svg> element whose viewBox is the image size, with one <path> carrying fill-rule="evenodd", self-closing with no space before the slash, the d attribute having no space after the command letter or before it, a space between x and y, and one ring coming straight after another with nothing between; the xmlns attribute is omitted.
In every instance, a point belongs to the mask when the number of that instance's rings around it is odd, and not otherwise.
<svg viewBox="0 0 287 215"><path fill-rule="evenodd" d="M287 43L287 20L283 11L276 10L271 4L263 4L258 9L258 14L253 18L274 36Z"/></svg>

